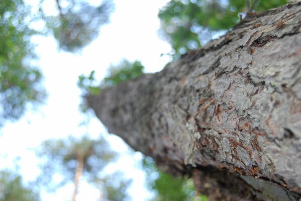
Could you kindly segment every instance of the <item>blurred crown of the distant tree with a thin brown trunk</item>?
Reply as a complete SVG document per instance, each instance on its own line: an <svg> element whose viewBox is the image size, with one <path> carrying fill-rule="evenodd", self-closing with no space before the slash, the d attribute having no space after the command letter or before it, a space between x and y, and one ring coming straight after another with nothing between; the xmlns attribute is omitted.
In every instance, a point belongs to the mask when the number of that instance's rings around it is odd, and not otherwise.
<svg viewBox="0 0 301 201"><path fill-rule="evenodd" d="M80 139L70 136L68 139L47 140L37 150L37 155L44 159L37 183L50 191L73 181L79 156L84 157L83 176L87 180L94 180L99 171L116 158L116 153L110 150L105 139L92 140L87 136ZM61 180L51 182L58 174Z"/></svg>

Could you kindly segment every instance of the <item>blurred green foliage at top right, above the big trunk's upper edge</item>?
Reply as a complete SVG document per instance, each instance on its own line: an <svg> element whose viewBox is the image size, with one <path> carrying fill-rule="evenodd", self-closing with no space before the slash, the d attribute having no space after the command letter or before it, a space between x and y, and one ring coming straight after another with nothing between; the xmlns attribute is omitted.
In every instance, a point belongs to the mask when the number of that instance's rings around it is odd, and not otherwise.
<svg viewBox="0 0 301 201"><path fill-rule="evenodd" d="M285 3L285 0L171 0L158 15L161 34L178 58L200 47L201 41L212 38L216 31L232 28L239 21L240 12L265 11Z"/></svg>

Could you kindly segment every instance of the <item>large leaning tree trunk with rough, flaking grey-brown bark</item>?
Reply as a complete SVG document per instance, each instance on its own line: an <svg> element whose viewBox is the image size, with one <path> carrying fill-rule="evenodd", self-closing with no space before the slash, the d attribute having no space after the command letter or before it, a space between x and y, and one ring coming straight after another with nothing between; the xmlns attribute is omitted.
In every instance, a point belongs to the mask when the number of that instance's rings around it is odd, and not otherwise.
<svg viewBox="0 0 301 201"><path fill-rule="evenodd" d="M211 200L301 197L301 3L87 97L111 133Z"/></svg>

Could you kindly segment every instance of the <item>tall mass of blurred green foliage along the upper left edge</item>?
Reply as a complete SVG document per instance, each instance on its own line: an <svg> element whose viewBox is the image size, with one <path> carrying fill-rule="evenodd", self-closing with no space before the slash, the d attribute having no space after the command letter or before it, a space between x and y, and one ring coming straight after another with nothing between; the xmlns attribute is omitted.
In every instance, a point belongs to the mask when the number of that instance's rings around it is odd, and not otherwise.
<svg viewBox="0 0 301 201"><path fill-rule="evenodd" d="M29 28L31 9L21 0L0 3L0 124L19 119L27 104L41 103L45 92L38 84L41 72L30 65L36 55Z"/></svg>

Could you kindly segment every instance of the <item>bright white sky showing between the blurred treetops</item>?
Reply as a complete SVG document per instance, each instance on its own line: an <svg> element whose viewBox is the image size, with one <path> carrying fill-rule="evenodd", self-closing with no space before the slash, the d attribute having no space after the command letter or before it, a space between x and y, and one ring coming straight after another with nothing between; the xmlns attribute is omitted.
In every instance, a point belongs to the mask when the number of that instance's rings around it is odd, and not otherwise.
<svg viewBox="0 0 301 201"><path fill-rule="evenodd" d="M96 118L91 119L88 127L78 126L85 118L78 109L81 91L76 82L80 74L87 75L95 70L96 77L102 79L109 65L118 64L123 58L140 60L146 67L146 72L159 71L169 61L168 56L160 55L170 52L170 46L157 35L158 9L168 1L114 2L116 7L111 23L102 27L99 37L81 53L58 51L57 43L52 37L36 36L32 39L37 44L36 52L40 56L38 65L45 77L43 84L48 98L38 111L28 111L20 121L7 123L0 130L0 168L12 168L13 159L20 156L20 171L24 179L33 180L39 174L39 168L38 159L30 149L39 146L42 141L65 138L70 134L81 136L87 131L92 137L107 133ZM45 0L45 5L50 12L55 12L55 0ZM127 170L126 176L134 178L133 188L130 189L133 200L147 200L150 194L143 187L144 174L135 164L141 154L131 155L127 145L117 137L111 135L107 139L114 149L125 153L121 162ZM96 200L98 191L85 186L86 184L81 184L78 200ZM72 192L73 185L70 184L55 194L44 192L42 200L70 200ZM87 194L90 195L89 199Z"/></svg>

